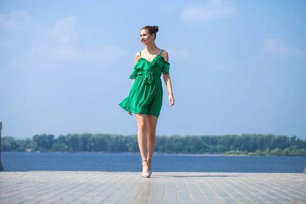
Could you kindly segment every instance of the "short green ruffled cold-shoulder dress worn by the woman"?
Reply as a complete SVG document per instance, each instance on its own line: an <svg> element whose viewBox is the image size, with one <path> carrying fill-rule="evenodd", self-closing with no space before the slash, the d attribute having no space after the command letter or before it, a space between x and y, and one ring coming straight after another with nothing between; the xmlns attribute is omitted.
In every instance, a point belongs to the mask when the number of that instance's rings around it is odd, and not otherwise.
<svg viewBox="0 0 306 204"><path fill-rule="evenodd" d="M169 73L170 63L165 61L161 53L151 62L141 57L136 63L130 79L135 79L129 96L119 106L131 113L140 113L159 117L163 102L161 75Z"/></svg>

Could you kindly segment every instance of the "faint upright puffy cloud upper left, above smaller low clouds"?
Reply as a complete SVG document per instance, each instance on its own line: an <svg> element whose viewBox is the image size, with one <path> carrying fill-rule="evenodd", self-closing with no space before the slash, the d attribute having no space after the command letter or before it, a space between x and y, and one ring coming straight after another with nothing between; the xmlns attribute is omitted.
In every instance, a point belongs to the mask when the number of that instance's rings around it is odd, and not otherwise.
<svg viewBox="0 0 306 204"><path fill-rule="evenodd" d="M68 16L55 22L55 27L51 31L51 35L61 43L67 43L78 36L78 33L74 31L75 24L77 24L78 18L75 16Z"/></svg>

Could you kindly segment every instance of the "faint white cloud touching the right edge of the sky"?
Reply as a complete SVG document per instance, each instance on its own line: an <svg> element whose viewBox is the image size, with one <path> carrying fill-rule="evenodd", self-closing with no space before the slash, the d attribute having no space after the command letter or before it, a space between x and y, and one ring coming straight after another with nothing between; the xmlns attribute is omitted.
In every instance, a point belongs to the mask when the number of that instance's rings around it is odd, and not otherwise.
<svg viewBox="0 0 306 204"><path fill-rule="evenodd" d="M266 39L263 42L262 52L272 56L288 56L293 55L297 57L305 56L303 50L293 47L286 47L282 41L277 39Z"/></svg>

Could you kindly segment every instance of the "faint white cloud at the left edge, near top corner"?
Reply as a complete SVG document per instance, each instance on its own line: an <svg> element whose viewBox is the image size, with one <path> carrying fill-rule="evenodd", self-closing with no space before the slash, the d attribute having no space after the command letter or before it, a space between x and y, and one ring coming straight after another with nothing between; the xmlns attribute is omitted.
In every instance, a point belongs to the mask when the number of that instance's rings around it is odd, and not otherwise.
<svg viewBox="0 0 306 204"><path fill-rule="evenodd" d="M0 27L9 31L20 30L29 19L27 11L12 11L9 15L0 13Z"/></svg>

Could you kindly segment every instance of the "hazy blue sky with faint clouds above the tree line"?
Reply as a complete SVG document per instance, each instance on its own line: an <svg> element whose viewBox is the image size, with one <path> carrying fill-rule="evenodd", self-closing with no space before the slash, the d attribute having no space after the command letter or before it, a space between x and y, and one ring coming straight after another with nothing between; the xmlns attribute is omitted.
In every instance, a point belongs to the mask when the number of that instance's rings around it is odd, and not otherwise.
<svg viewBox="0 0 306 204"><path fill-rule="evenodd" d="M119 107L140 29L168 51L157 135L306 139L306 2L6 1L0 6L3 136L137 134Z"/></svg>

